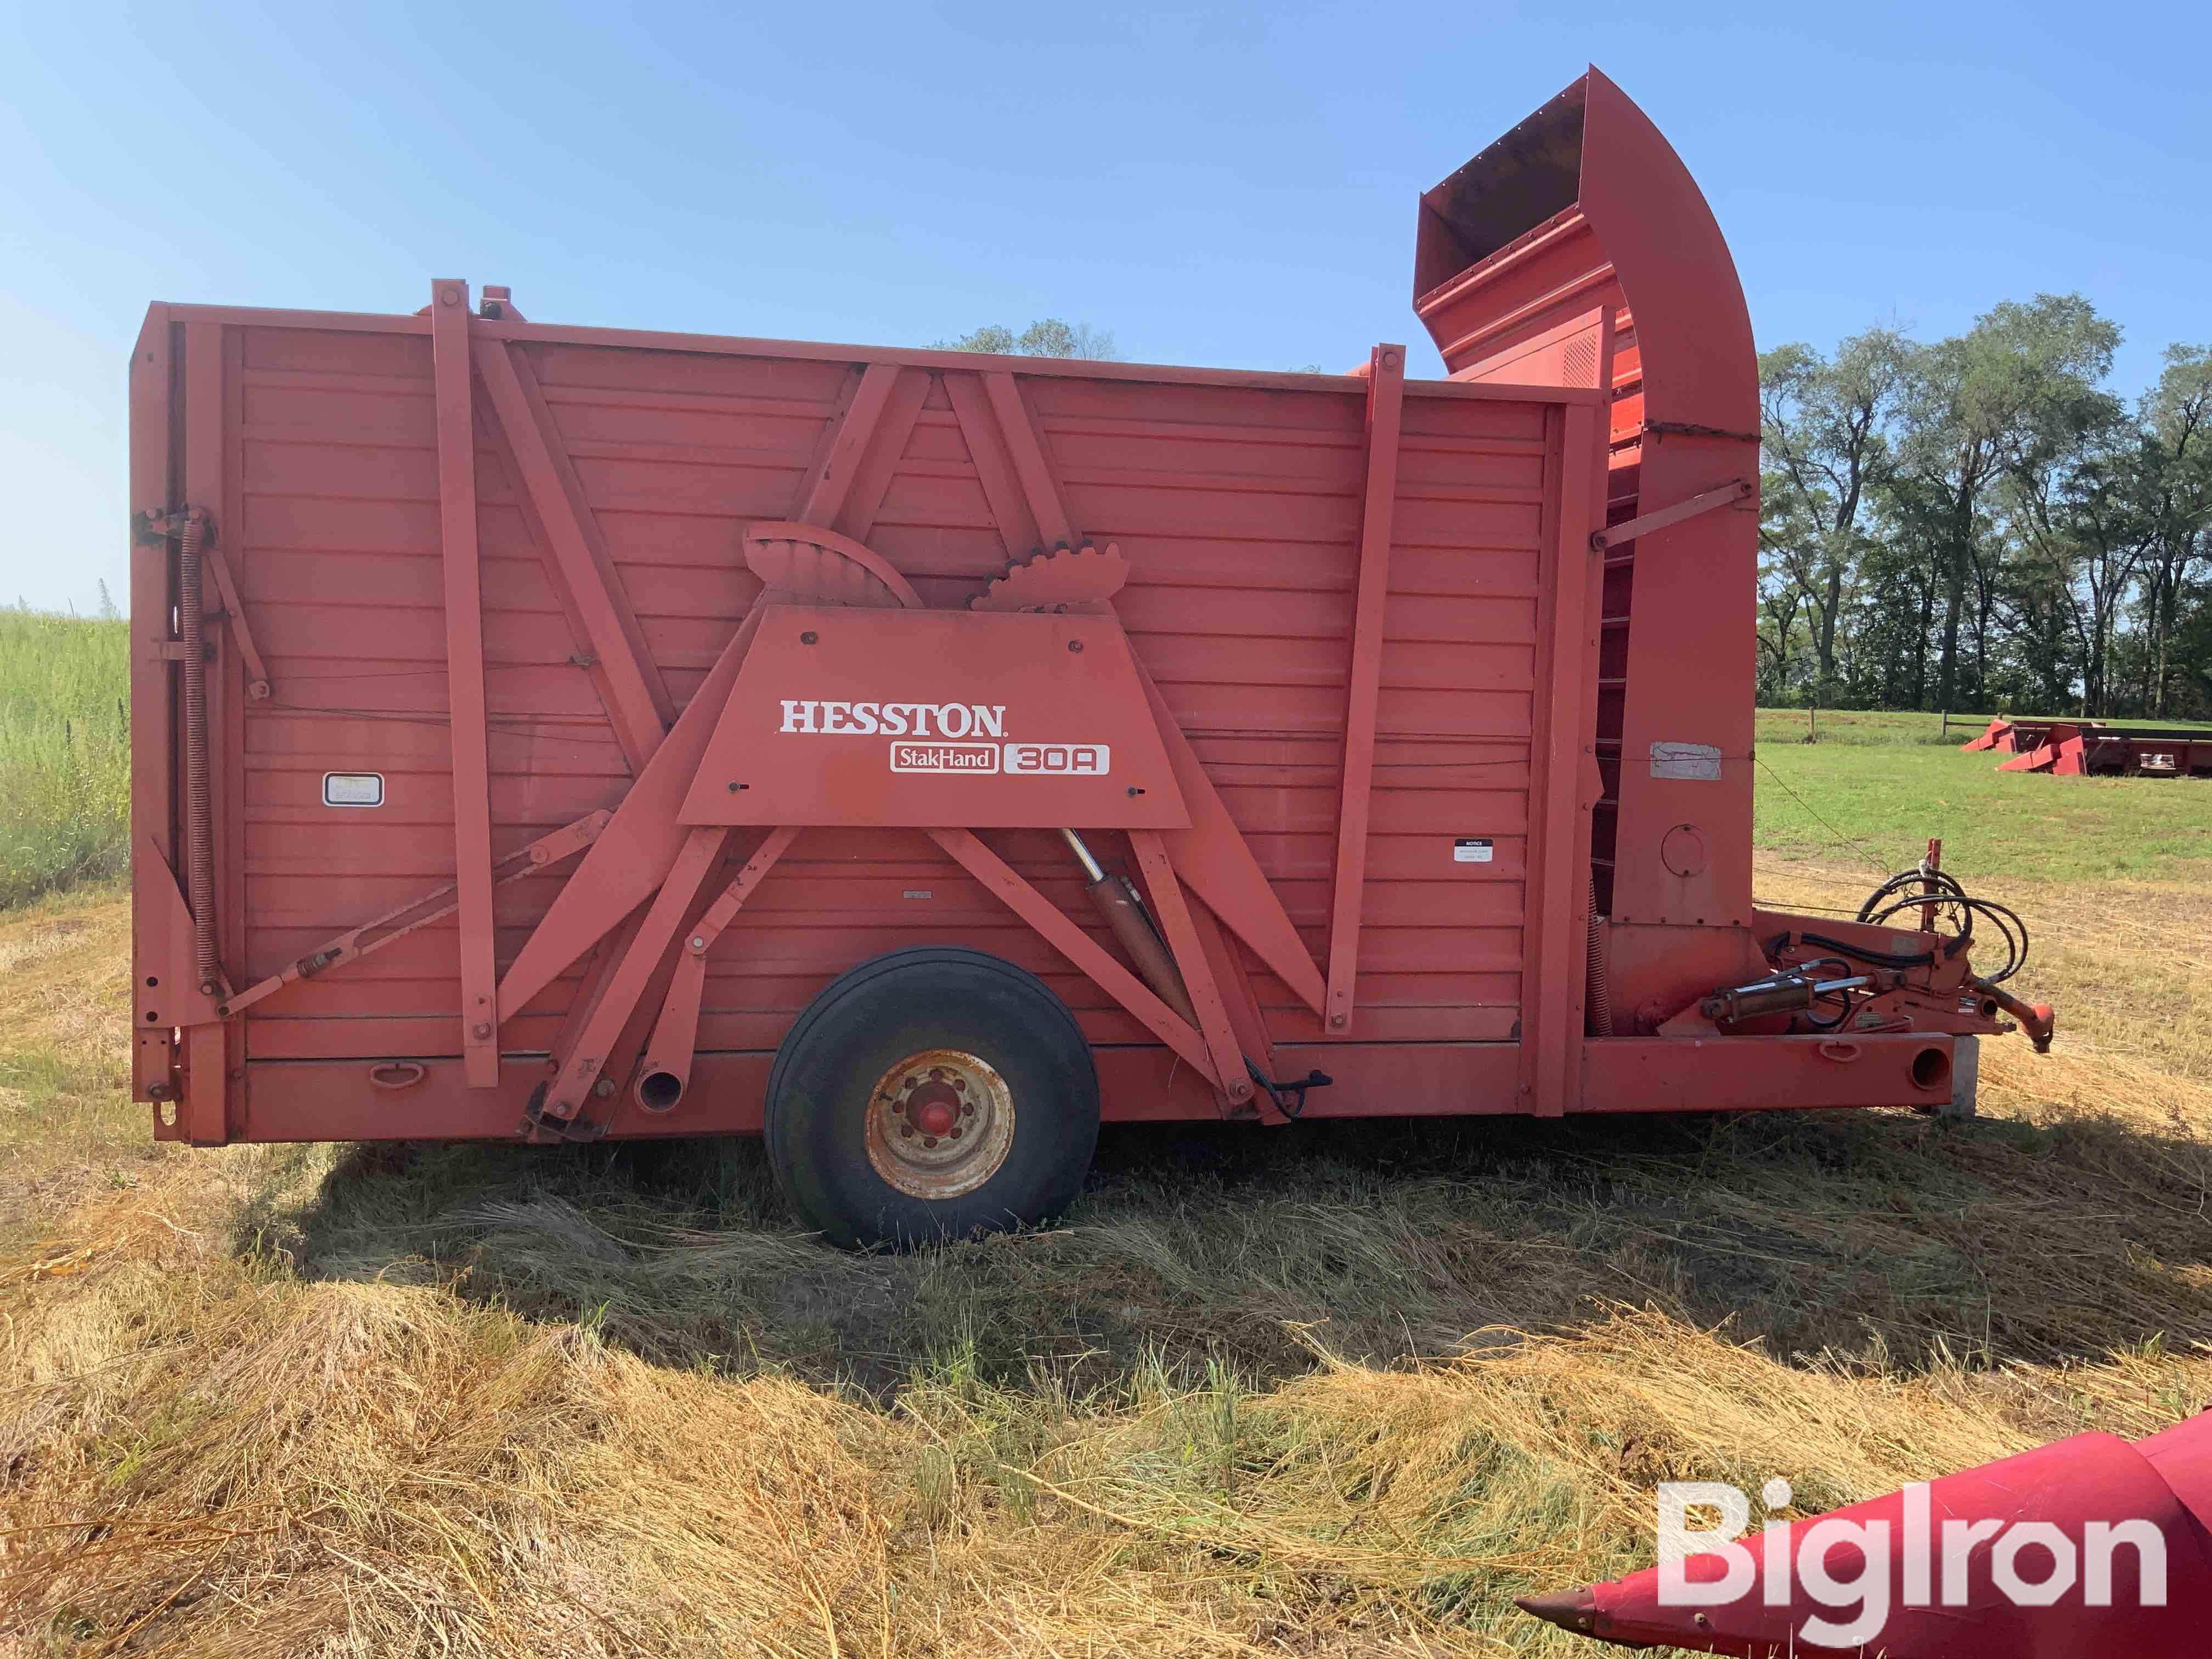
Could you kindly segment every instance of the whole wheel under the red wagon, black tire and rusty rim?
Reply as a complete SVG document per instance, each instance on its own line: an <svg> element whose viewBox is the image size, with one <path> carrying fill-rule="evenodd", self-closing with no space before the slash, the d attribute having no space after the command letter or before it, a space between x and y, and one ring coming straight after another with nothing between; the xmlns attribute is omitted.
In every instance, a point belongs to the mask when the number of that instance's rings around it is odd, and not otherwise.
<svg viewBox="0 0 2212 1659"><path fill-rule="evenodd" d="M1099 1079L1037 975L925 945L807 1004L768 1075L763 1128L783 1197L834 1243L962 1239L1075 1199Z"/></svg>

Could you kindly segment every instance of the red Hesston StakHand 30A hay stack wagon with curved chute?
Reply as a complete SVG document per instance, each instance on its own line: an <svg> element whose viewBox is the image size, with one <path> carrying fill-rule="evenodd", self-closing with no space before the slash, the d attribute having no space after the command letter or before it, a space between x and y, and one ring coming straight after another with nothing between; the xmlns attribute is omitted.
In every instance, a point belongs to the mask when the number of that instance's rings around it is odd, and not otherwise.
<svg viewBox="0 0 2212 1659"><path fill-rule="evenodd" d="M1449 380L155 305L155 1133L765 1130L872 1241L1051 1212L1102 1117L1971 1110L2048 1040L2002 907L1752 902L1756 372L1681 161L1593 71L1413 288Z"/></svg>

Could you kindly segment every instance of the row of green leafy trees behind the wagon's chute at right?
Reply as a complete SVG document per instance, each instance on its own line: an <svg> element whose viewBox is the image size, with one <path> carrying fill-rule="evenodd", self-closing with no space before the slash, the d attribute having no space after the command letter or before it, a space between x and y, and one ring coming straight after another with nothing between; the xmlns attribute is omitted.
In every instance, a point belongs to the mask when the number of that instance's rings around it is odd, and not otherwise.
<svg viewBox="0 0 2212 1659"><path fill-rule="evenodd" d="M2212 717L2212 347L2079 294L1759 358L1759 699Z"/></svg>

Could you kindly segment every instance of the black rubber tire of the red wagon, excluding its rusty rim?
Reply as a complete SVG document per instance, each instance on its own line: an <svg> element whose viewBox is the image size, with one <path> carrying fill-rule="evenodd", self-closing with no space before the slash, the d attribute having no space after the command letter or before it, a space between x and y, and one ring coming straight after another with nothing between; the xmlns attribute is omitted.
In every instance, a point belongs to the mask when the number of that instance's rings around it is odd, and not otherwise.
<svg viewBox="0 0 2212 1659"><path fill-rule="evenodd" d="M869 1091L925 1048L987 1060L1015 1104L1004 1164L951 1199L900 1192L867 1157ZM1097 1066L1075 1015L1035 973L958 945L889 951L843 973L799 1015L768 1073L776 1186L847 1250L1046 1221L1075 1201L1097 1137Z"/></svg>

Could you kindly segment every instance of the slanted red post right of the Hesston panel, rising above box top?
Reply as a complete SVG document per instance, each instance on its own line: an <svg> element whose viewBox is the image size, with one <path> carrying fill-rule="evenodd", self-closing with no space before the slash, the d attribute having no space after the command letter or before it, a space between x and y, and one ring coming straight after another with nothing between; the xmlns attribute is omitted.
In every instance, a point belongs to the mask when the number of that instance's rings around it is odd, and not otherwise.
<svg viewBox="0 0 2212 1659"><path fill-rule="evenodd" d="M1398 495L1398 425L1405 347L1378 345L1367 363L1367 502L1360 509L1360 575L1352 604L1352 684L1345 699L1345 776L1336 805L1336 894L1329 902L1327 1031L1352 1031L1360 973L1360 894L1367 885L1367 814L1383 692L1383 608L1389 599L1389 522Z"/></svg>

